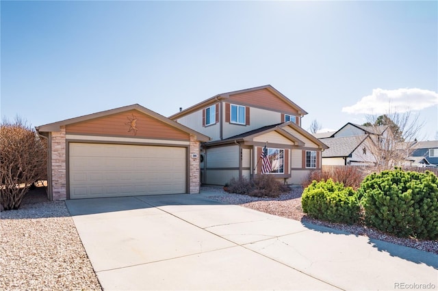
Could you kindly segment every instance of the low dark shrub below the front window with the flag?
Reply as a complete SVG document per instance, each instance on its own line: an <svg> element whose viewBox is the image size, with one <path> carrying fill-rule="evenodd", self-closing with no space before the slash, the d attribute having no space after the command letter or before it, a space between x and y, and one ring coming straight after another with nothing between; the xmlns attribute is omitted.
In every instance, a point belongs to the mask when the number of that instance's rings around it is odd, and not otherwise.
<svg viewBox="0 0 438 291"><path fill-rule="evenodd" d="M272 175L257 175L253 180L242 177L240 180L232 178L229 182L229 192L253 197L279 197L289 191L289 187L281 184Z"/></svg>

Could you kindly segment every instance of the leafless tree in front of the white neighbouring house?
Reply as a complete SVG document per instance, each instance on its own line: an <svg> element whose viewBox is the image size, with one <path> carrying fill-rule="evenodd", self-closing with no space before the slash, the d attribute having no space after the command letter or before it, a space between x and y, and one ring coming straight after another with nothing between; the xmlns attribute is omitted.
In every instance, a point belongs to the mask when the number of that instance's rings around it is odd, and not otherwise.
<svg viewBox="0 0 438 291"><path fill-rule="evenodd" d="M411 111L405 113L387 113L368 115L368 126L372 142L368 142L366 151L380 170L391 169L407 163L407 157L415 150L415 143L424 122Z"/></svg>

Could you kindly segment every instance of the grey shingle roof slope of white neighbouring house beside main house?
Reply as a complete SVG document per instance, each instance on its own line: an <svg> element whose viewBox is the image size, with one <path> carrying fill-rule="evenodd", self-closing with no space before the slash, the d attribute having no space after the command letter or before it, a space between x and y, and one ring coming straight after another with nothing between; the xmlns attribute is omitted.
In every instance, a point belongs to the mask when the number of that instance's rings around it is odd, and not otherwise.
<svg viewBox="0 0 438 291"><path fill-rule="evenodd" d="M320 139L323 143L329 146L328 149L322 152L323 158L334 158L341 156L350 156L357 147L368 137L368 135L355 135L352 137L329 137Z"/></svg>

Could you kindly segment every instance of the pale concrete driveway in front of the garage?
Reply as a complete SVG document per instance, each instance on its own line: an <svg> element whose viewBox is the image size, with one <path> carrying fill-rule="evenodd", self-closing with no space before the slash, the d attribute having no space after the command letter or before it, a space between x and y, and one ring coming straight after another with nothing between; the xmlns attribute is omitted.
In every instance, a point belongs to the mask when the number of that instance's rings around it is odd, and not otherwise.
<svg viewBox="0 0 438 291"><path fill-rule="evenodd" d="M203 195L66 204L105 290L438 288L433 253Z"/></svg>

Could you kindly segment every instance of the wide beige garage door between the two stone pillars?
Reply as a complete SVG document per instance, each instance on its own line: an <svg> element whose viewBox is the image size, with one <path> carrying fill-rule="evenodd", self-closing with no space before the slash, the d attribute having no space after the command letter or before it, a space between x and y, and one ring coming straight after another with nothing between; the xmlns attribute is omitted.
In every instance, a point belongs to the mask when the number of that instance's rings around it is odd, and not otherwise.
<svg viewBox="0 0 438 291"><path fill-rule="evenodd" d="M185 148L70 143L70 199L185 193Z"/></svg>

